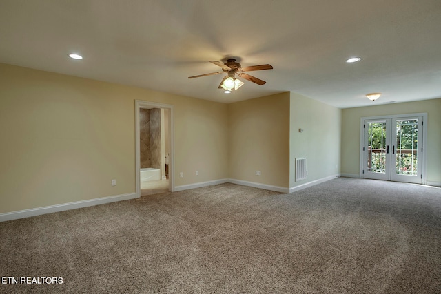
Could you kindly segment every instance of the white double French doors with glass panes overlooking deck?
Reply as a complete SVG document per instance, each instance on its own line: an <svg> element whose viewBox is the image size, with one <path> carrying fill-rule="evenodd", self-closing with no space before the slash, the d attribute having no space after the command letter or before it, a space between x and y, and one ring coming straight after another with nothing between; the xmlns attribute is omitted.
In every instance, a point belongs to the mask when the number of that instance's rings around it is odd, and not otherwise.
<svg viewBox="0 0 441 294"><path fill-rule="evenodd" d="M362 120L362 178L423 183L423 118Z"/></svg>

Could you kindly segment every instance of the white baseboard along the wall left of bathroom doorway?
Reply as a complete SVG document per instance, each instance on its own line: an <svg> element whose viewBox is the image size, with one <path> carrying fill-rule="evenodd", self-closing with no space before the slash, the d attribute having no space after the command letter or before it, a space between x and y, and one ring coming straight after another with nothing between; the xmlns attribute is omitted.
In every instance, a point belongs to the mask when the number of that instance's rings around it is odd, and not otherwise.
<svg viewBox="0 0 441 294"><path fill-rule="evenodd" d="M121 200L129 200L134 198L136 198L136 193L128 193L128 194L122 194L116 196L51 205L47 207L37 207L33 209L0 213L0 222L6 222L7 220L17 220L19 218L29 218L30 216L40 216L41 214L46 214L46 213L77 209L81 207L90 207L94 205L116 202Z"/></svg>

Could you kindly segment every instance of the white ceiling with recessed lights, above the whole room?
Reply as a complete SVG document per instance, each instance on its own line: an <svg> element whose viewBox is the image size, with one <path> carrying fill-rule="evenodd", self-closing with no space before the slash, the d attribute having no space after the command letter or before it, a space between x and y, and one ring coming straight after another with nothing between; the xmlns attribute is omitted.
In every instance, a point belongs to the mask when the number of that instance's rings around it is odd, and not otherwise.
<svg viewBox="0 0 441 294"><path fill-rule="evenodd" d="M440 0L0 0L0 62L224 103L418 101L441 98L440 12ZM232 56L274 70L231 94L223 75L187 78Z"/></svg>

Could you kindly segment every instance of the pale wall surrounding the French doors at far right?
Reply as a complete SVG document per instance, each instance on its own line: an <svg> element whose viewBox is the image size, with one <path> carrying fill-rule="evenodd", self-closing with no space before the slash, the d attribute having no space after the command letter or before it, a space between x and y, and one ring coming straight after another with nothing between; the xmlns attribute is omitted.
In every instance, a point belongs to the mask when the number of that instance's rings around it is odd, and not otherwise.
<svg viewBox="0 0 441 294"><path fill-rule="evenodd" d="M342 174L360 172L360 118L427 112L427 182L441 183L441 98L342 109Z"/></svg>

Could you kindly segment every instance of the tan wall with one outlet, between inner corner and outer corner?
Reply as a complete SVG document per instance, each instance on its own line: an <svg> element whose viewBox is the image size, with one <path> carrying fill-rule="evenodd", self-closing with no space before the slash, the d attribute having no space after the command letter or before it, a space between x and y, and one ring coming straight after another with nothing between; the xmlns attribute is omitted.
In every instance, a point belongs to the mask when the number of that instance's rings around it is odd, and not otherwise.
<svg viewBox="0 0 441 294"><path fill-rule="evenodd" d="M231 103L228 114L229 178L288 188L289 92Z"/></svg>

